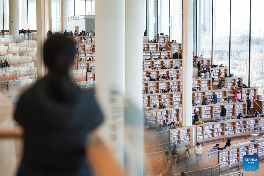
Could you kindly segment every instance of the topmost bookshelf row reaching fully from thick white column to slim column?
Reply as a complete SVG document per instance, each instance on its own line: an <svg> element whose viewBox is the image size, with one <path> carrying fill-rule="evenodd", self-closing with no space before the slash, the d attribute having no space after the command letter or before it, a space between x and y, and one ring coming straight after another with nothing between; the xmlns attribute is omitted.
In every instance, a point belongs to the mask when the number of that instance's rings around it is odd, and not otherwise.
<svg viewBox="0 0 264 176"><path fill-rule="evenodd" d="M143 60L143 70L147 70L150 66L151 69L154 69L154 67L157 67L157 70L161 69L163 65L167 68L174 69L174 67L178 67L179 69L182 67L182 59L177 60ZM165 69L169 70L169 69ZM155 71L155 70L154 70Z"/></svg>

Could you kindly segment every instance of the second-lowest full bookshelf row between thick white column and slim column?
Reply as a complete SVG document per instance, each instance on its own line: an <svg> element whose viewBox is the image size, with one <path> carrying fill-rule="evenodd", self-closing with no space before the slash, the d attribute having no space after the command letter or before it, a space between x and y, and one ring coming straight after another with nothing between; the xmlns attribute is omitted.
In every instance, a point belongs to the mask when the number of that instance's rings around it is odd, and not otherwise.
<svg viewBox="0 0 264 176"><path fill-rule="evenodd" d="M182 105L182 92L143 94L143 108L154 105L158 108L163 103L166 107Z"/></svg>

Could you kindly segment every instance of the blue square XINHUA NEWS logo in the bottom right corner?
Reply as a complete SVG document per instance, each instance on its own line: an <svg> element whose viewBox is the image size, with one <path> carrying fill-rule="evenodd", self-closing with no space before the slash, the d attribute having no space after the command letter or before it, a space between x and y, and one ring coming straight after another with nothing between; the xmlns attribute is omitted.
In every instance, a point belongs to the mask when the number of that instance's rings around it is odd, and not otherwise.
<svg viewBox="0 0 264 176"><path fill-rule="evenodd" d="M243 170L245 171L257 171L258 167L258 155L244 155L243 156Z"/></svg>

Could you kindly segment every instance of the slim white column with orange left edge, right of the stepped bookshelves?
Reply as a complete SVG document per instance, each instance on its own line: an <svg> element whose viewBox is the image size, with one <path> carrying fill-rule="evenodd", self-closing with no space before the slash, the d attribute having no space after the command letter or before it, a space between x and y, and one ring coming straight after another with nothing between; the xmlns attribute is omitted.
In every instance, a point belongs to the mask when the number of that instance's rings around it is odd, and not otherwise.
<svg viewBox="0 0 264 176"><path fill-rule="evenodd" d="M183 10L183 123L192 125L193 1L184 0Z"/></svg>

